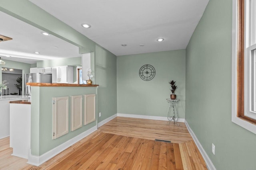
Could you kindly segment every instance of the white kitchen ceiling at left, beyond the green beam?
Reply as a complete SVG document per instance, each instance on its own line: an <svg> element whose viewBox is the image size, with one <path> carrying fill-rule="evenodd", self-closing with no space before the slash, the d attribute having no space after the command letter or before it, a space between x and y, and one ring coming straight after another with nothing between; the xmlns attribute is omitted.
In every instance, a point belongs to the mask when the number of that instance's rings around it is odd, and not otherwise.
<svg viewBox="0 0 256 170"><path fill-rule="evenodd" d="M42 30L18 20L4 12L0 12L0 34L12 40L0 42L0 57L22 63L79 57L79 49L53 35L42 35ZM35 54L34 52L40 52ZM12 57L6 57L10 55Z"/></svg>

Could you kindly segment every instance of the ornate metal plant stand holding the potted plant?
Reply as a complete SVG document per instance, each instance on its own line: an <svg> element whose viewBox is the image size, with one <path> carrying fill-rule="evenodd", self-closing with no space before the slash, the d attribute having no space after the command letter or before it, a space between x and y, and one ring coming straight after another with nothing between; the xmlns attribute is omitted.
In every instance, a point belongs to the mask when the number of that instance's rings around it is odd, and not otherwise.
<svg viewBox="0 0 256 170"><path fill-rule="evenodd" d="M168 115L167 115L168 122L166 122L166 124L169 125L170 121L174 121L174 124L176 126L179 126L180 124L177 123L177 121L178 121L178 110L176 108L176 106L178 105L179 100L172 100L172 99L166 99L166 100L167 100L168 103L170 103L170 107L169 107ZM173 113L173 115L171 113Z"/></svg>

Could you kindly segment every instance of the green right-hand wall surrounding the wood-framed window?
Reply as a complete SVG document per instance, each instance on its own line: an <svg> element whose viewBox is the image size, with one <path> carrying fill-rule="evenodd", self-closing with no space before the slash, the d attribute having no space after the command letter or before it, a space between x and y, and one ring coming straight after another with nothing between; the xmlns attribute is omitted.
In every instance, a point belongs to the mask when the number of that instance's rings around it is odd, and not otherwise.
<svg viewBox="0 0 256 170"><path fill-rule="evenodd" d="M217 170L255 170L256 135L231 121L231 45L232 0L210 0L186 48L186 120Z"/></svg>

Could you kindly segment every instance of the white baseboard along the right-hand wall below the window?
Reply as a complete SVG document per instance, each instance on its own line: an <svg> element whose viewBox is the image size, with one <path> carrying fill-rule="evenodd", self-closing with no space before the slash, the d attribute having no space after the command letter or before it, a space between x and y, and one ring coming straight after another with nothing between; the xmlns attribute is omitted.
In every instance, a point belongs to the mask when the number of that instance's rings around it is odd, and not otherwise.
<svg viewBox="0 0 256 170"><path fill-rule="evenodd" d="M214 164L210 160L209 156L205 152L204 148L202 147L201 143L198 141L196 135L194 134L194 132L192 131L192 129L190 128L190 126L188 125L188 122L186 120L185 120L185 125L188 128L190 135L194 139L194 142L196 143L196 146L198 147L200 153L202 154L208 170L216 170Z"/></svg>

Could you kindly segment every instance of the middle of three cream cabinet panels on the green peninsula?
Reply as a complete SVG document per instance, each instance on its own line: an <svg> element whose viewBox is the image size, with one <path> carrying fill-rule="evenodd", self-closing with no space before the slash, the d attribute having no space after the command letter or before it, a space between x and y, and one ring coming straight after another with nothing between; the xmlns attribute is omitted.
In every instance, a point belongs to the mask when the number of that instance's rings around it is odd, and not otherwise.
<svg viewBox="0 0 256 170"><path fill-rule="evenodd" d="M82 127L82 95L71 96L71 131Z"/></svg>

